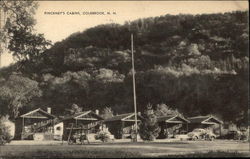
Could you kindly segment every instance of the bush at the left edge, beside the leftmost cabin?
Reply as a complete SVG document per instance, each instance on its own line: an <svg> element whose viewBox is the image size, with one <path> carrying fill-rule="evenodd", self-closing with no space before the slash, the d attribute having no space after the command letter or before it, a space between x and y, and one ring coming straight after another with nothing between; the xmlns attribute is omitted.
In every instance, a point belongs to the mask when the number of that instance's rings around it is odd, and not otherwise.
<svg viewBox="0 0 250 159"><path fill-rule="evenodd" d="M11 134L9 127L3 123L3 118L0 119L0 145L5 145L11 141Z"/></svg>

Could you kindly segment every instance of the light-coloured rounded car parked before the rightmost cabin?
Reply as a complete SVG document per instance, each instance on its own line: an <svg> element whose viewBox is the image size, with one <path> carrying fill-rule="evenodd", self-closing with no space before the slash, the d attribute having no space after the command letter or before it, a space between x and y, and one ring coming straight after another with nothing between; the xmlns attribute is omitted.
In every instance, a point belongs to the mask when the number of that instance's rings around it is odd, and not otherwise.
<svg viewBox="0 0 250 159"><path fill-rule="evenodd" d="M216 135L212 131L205 129L194 129L192 132L189 132L187 136L190 140L214 140L216 138Z"/></svg>

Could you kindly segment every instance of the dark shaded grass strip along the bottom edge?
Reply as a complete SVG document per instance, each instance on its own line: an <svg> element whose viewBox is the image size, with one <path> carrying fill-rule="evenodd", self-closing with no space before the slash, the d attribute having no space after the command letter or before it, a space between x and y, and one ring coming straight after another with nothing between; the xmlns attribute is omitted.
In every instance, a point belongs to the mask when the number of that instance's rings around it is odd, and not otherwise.
<svg viewBox="0 0 250 159"><path fill-rule="evenodd" d="M120 150L73 150L73 151L44 151L39 150L36 152L23 152L18 156L9 154L8 156L2 156L3 159L63 159L63 158L146 158L139 152L128 152ZM227 152L227 151L209 151L209 152L195 152L190 154L172 154L172 155L161 155L156 156L157 158L221 158L221 157L249 157L247 154L238 152ZM151 157L152 158L152 157Z"/></svg>

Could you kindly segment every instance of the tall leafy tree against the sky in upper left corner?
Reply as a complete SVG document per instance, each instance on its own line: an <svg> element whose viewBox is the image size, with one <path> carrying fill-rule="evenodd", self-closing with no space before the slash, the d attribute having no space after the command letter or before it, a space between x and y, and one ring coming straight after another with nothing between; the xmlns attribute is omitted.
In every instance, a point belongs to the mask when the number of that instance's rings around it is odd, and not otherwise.
<svg viewBox="0 0 250 159"><path fill-rule="evenodd" d="M0 43L8 43L8 49L19 61L36 60L50 45L43 34L34 33L37 2L1 1L6 23L1 26Z"/></svg>

